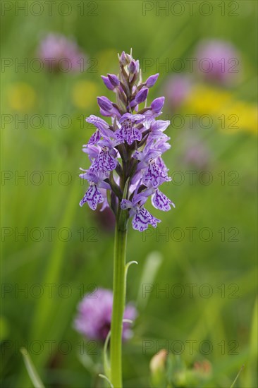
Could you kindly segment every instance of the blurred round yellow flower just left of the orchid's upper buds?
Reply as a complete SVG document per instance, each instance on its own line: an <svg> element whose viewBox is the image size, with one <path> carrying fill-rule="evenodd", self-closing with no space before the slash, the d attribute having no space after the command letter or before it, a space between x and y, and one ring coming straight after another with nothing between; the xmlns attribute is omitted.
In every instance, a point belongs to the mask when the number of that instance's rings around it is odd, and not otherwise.
<svg viewBox="0 0 258 388"><path fill-rule="evenodd" d="M78 81L73 86L72 99L75 107L80 109L87 109L94 107L96 99L92 96L99 94L99 87L92 81Z"/></svg>

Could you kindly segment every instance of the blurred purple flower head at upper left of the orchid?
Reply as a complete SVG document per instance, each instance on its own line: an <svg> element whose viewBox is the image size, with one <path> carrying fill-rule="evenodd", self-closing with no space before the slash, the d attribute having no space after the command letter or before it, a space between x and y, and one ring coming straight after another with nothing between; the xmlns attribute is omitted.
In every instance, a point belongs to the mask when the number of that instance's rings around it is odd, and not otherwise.
<svg viewBox="0 0 258 388"><path fill-rule="evenodd" d="M50 33L39 44L38 52L50 73L84 70L85 54L82 53L74 40L70 40L64 35Z"/></svg>

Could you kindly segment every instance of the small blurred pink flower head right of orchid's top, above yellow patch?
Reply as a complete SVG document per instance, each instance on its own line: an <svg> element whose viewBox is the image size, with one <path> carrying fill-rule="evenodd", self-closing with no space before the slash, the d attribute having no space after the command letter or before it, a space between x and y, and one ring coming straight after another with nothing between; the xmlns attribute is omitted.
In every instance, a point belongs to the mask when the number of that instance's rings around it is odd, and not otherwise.
<svg viewBox="0 0 258 388"><path fill-rule="evenodd" d="M180 108L192 90L192 79L189 75L171 75L166 80L164 94L167 103L174 109Z"/></svg>

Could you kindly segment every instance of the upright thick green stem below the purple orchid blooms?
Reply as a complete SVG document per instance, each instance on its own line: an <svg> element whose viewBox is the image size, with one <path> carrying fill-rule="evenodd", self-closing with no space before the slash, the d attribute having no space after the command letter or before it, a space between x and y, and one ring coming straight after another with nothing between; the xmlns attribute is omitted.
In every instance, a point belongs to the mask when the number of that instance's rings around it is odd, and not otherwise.
<svg viewBox="0 0 258 388"><path fill-rule="evenodd" d="M125 309L125 252L126 228L116 224L113 262L113 312L111 320L111 383L115 388L123 387L122 382L122 332Z"/></svg>

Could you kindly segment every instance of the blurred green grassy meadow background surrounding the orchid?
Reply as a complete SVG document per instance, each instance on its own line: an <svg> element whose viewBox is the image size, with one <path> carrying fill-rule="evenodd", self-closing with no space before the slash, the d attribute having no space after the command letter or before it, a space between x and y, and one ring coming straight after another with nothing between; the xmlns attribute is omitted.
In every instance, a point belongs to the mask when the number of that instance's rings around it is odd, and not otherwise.
<svg viewBox="0 0 258 388"><path fill-rule="evenodd" d="M2 348L3 387L32 386L18 351L20 346L29 348L47 387L101 387L104 384L79 360L82 339L73 329L73 318L83 291L90 291L92 284L111 288L113 231L104 227L103 219L99 221L86 206L82 209L78 206L85 192L85 186L78 178L78 168L87 166L81 146L92 133L86 125L82 126L82 122L86 116L98 114L97 95L112 98L112 92L106 92L102 85L100 75L116 73L117 52L128 52L133 47L133 56L140 59L140 63L146 58L164 63L166 58L190 57L197 42L204 38L231 41L240 51L243 69L242 80L231 93L236 99L250 104L256 101L255 1L234 1L239 7L235 17L228 16L228 8L226 15L221 16L218 1L209 2L213 6L210 16L203 16L198 9L190 16L185 3L185 12L181 16L171 13L156 16L155 11L143 16L142 1L91 3L97 4L97 16L87 16L86 12L81 16L78 4L82 2L70 1L72 12L69 16L60 15L54 7L52 16L48 16L47 11L41 16L30 13L24 16L22 12L16 15L13 8L2 17L2 58L19 61L27 58L30 61L44 35L61 32L75 37L87 56L97 61L97 71L93 73L49 75L44 71L36 73L30 68L27 72L22 68L15 71L14 66L2 73L1 112L11 115L12 122L2 129L1 164L2 170L13 174L13 178L2 181L1 187L1 227L2 231L11 228L8 231L12 233L11 236L2 236L1 340L8 341ZM228 3L225 3L227 7ZM156 66L147 68L143 77L152 73L156 73ZM168 73L162 68L160 73L159 83L151 90L153 98L161 95L162 85L166 84ZM172 114L168 106L164 113ZM49 128L47 119L40 128L30 123L27 128L23 123L17 128L16 119L25 114L29 117L54 114L53 128ZM69 128L60 128L56 123L56 118L64 114L72 117ZM161 233L180 228L185 236L182 241L176 241L180 238L175 231L176 237L166 241L156 232L142 235L130 229L128 260L137 260L139 265L131 267L128 274L128 301L135 301L141 294L141 276L147 255L159 251L163 261L147 305L142 309L139 307L135 336L124 346L125 387L149 386L149 360L159 350L155 345L145 354L143 341L149 340L154 341L153 344L156 341L165 344L165 347L166 341L169 344L176 340L184 344L187 340L197 341L194 353L190 354L185 346L182 357L188 363L202 358L210 361L214 379L207 387L230 387L242 364L245 368L235 387L257 387L257 346L252 326L257 284L256 137L245 128L231 134L226 132L219 131L216 125L208 130L198 126L194 129L168 128L172 147L166 152L165 162L172 172L182 171L185 182L170 183L164 188L176 203L176 210L164 214L154 211L153 214L162 220L159 225ZM200 183L198 178L190 184L185 171L196 170L198 177L202 169L185 163L185 144L189 138L197 139L209 150L209 166L205 169L213 176L210 185ZM17 182L14 176L22 176L25 171L28 171L28 182ZM42 184L30 181L33 171L42 171ZM56 171L52 184L49 184L46 171ZM67 185L57 178L61 171L71 174ZM221 171L226 174L225 185L221 184ZM228 184L233 178L228 176L231 171L236 171L237 186ZM66 181L66 176L63 176L63 181ZM188 235L187 228L190 227L197 228L193 241ZM29 234L33 228L44 231L42 241L35 241L37 232L27 241L24 236L15 238L17 231L25 228ZM52 241L48 238L49 228L54 228ZM69 229L69 241L62 241L66 240L65 232L59 238L61 228ZM202 228L211 229L211 241L199 238ZM219 231L222 228L225 229L226 241L221 241ZM239 232L236 242L228 241L233 235L231 228ZM81 239L82 229L85 230L84 239ZM92 231L95 241L91 241ZM27 295L23 291L15 292L25 288L26 284ZM30 286L35 284L44 289L39 298L30 292ZM46 284L56 284L53 298L49 298ZM62 291L66 295L64 284L72 290L67 298L60 295ZM171 293L167 296L155 292L156 288L164 289L166 285L171 290L174 284L184 287L185 295L181 298ZM194 298L190 298L186 284L197 284ZM203 284L212 287L210 298L199 295ZM225 297L221 296L221 284L225 285ZM231 297L232 284L236 285L238 298ZM63 289L57 293L59 286ZM49 353L47 341L51 340L55 342ZM200 354L198 348L204 340L213 344L213 350L207 355ZM36 342L34 351L30 351L33 341L44 344L43 351L39 345L39 354ZM58 348L60 341L72 344L68 354L63 354L66 351ZM225 354L219 345L223 341ZM237 354L232 354L233 343L230 341L236 341ZM93 358L99 360L100 356L97 354Z"/></svg>

